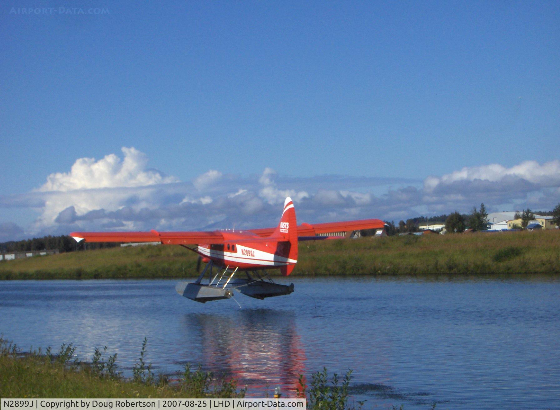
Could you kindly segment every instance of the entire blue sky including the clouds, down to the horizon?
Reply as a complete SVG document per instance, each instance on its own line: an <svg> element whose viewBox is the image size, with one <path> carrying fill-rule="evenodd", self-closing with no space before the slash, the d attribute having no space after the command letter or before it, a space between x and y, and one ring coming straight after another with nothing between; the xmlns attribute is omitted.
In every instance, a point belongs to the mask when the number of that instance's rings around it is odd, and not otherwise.
<svg viewBox="0 0 560 410"><path fill-rule="evenodd" d="M8 1L0 35L0 240L560 202L558 2Z"/></svg>

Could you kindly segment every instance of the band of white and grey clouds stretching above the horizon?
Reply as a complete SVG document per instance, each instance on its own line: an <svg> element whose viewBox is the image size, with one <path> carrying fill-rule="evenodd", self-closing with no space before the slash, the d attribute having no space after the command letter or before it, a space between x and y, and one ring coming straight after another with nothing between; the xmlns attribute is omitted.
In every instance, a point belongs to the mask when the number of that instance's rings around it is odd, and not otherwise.
<svg viewBox="0 0 560 410"><path fill-rule="evenodd" d="M450 174L405 181L341 175L287 177L265 168L260 175L210 169L179 183L147 168L147 156L123 148L124 159L79 159L66 173L48 176L30 193L0 195L0 207L39 212L32 225L0 221L0 237L67 234L73 230L213 230L274 226L290 196L298 222L362 218L393 220L469 212L545 211L560 202L560 161L525 161L505 167L465 167ZM381 190L384 186L386 189ZM11 223L5 223L11 222ZM17 222L18 225L15 225Z"/></svg>

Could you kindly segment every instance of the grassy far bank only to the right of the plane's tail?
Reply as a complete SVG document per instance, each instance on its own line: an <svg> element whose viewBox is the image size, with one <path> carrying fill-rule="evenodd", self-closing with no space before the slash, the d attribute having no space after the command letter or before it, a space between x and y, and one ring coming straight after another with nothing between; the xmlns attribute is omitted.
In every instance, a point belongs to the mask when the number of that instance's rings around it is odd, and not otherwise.
<svg viewBox="0 0 560 410"><path fill-rule="evenodd" d="M302 275L560 273L560 231L363 238L300 249Z"/></svg>

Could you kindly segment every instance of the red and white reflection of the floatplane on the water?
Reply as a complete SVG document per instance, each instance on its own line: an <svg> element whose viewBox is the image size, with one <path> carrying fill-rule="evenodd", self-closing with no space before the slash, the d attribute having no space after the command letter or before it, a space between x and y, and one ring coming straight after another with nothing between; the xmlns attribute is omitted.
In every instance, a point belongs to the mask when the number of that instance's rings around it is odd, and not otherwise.
<svg viewBox="0 0 560 410"><path fill-rule="evenodd" d="M239 388L247 385L248 396L263 397L267 388L281 385L282 397L295 397L306 357L293 313L248 309L235 316L187 314L184 327L200 332L203 370L232 377Z"/></svg>

